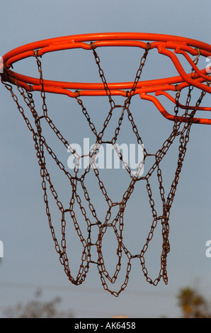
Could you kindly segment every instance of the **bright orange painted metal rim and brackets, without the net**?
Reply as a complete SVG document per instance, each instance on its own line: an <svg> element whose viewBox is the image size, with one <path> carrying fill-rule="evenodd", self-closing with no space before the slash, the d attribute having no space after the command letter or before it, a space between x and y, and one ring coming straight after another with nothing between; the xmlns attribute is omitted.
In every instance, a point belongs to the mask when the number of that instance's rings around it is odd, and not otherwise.
<svg viewBox="0 0 211 333"><path fill-rule="evenodd" d="M47 52L75 48L91 50L92 47L110 46L140 47L142 49L149 47L150 50L156 48L160 54L171 59L178 72L178 76L139 81L135 92L133 92L133 94L139 94L142 99L152 101L161 114L169 120L173 120L174 115L170 115L166 111L156 96L164 94L167 98L171 99L171 101L175 102L174 98L168 95L166 91L180 91L187 86L195 86L211 94L211 87L207 84L207 82L210 82L211 77L207 75L207 69L198 69L189 56L193 55L198 57L198 55L200 55L206 58L211 57L211 45L190 38L154 33L94 33L70 35L30 43L17 47L3 56L5 70L4 74L1 74L1 76L3 81L8 81L12 84L18 83L18 85L23 86L27 91L42 91L40 79L27 77L14 72L11 70L13 64L28 57L35 57L35 55L41 57ZM195 71L194 78L191 73L186 73L177 55L183 55L183 57L186 58L187 62L190 64L190 68L193 68ZM133 82L108 83L111 95L128 96L128 91L132 89L132 86ZM43 87L46 92L65 94L73 98L78 96L104 96L107 94L103 83L65 82L43 79ZM152 95L153 93L155 94ZM211 108L200 107L200 110L211 111ZM192 121L193 123L211 124L211 120L207 118L193 118Z"/></svg>

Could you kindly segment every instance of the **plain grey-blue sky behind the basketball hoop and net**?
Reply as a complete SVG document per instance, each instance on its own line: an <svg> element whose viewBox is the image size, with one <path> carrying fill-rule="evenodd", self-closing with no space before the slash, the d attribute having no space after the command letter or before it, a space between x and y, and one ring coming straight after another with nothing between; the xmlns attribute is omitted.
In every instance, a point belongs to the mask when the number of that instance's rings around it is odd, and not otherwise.
<svg viewBox="0 0 211 333"><path fill-rule="evenodd" d="M37 40L83 33L163 33L210 43L210 22L207 16L209 11L209 0L203 2L196 0L1 0L1 13L4 13L4 16L1 16L0 55ZM132 52L134 54L128 56L135 57L136 51L132 50ZM96 70L94 60L88 68L86 65L88 60L84 56L79 59L76 57L77 55L74 53L72 55L71 51L68 54L64 53L64 57L62 53L48 54L46 61L43 57L43 64L52 77L58 74L59 79L63 78L62 75L67 74L67 67L70 66L73 69L77 68L73 71L75 77L78 75L80 79L83 76L89 79L89 75ZM124 75L130 76L135 67L125 59L126 56L121 54L118 61L111 64L113 70L110 72L110 77L118 74L123 80ZM105 64L109 68L111 60L109 56L105 57L102 60L102 66ZM156 62L158 62L157 65ZM167 64L164 61L162 63L164 66L160 67L155 53L153 63L156 65L154 67L156 73L151 70L149 76L154 74L160 77L169 76L169 72L165 72ZM24 74L33 71L28 62L20 66ZM122 71L118 72L118 66L122 66ZM52 68L55 69L53 72L51 72ZM148 72L144 74L148 75ZM133 74L132 77L134 77ZM37 100L39 100L38 97L37 94ZM0 264L1 312L10 305L18 302L25 303L33 298L37 288L42 288L43 300L50 300L55 296L61 297L62 309L72 310L77 317L112 317L120 314L128 317L163 315L178 317L180 312L176 304L176 294L180 288L194 286L207 298L211 296L211 259L205 256L205 244L211 239L210 126L193 125L191 129L188 152L170 215L169 284L166 286L161 281L156 288L150 286L144 280L140 266L135 264L130 272L127 288L119 298L114 298L103 290L96 266L91 268L84 283L78 287L69 283L65 276L47 225L33 140L10 94L2 85L0 98L0 240L4 242L4 259ZM74 142L80 142L85 135L88 135L84 125L79 123L80 118L76 112L72 113L71 128L69 123L65 123L62 112L64 111L65 117L68 115L69 103L72 103L69 98L51 95L47 97L47 100L51 114L57 116L59 126L64 125L64 130L71 130ZM101 101L93 102L93 99L87 98L86 102L89 108L94 103L91 115L99 123L101 121L99 110L105 106L101 106ZM210 103L210 96L206 96L206 102ZM40 107L39 101L38 107ZM169 107L173 108L171 103ZM144 135L146 134L144 145L149 145L150 149L153 149L168 137L172 123L163 118L152 105L149 108L147 106L146 113L147 118L144 118L143 113L141 118L143 123L140 125ZM171 171L176 165L174 157L175 154L172 153L169 162L166 163L164 174L166 172L171 176ZM111 180L110 191L118 196L118 193L124 190L124 184L113 186L115 176L105 175L105 177ZM60 186L62 189L63 183ZM66 194L67 192L63 193L64 200ZM100 198L96 196L93 199L101 210ZM139 198L137 191L135 201L130 208L132 213L127 213L126 236L129 244L136 249L142 247L139 246L142 220L147 220L149 207L145 205L144 198ZM113 235L108 237L110 238L106 239L107 259L109 258L110 263L113 263L111 244ZM159 240L158 244L161 244ZM72 238L73 266L79 263L78 249L79 244ZM159 269L156 251L156 249L150 249L149 261L147 261L152 271Z"/></svg>

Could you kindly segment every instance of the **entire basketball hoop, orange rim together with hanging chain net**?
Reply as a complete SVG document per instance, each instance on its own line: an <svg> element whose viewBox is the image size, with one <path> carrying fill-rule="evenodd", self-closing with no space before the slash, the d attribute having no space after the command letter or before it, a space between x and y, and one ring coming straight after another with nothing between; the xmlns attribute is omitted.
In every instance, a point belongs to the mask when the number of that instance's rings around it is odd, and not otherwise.
<svg viewBox="0 0 211 333"><path fill-rule="evenodd" d="M101 47L136 47L139 50L142 50L142 57L139 61L139 67L137 68L137 72L135 74L134 81L125 81L125 82L110 82L108 83L105 79L105 74L101 67L101 59L98 55L98 48ZM69 50L71 52L72 49L83 49L88 52L92 52L93 60L96 62L96 66L98 69L99 77L101 78L100 83L91 83L91 82L72 82L72 81L52 81L43 77L42 73L42 62L41 57L44 57L45 54L49 52L56 52L59 50ZM157 50L159 54L168 57L173 67L178 72L178 76L176 77L164 77L162 79L151 79L151 80L142 80L142 72L144 69L144 65L147 62L147 57L152 50ZM184 68L183 64L179 60L179 57L183 57L186 60L186 64L188 69ZM41 40L39 42L30 43L28 45L23 45L21 47L17 47L14 50L6 53L2 57L4 62L4 72L1 73L1 81L6 86L6 89L10 91L13 101L15 101L18 111L20 111L23 119L25 120L28 129L30 130L33 140L35 143L35 152L38 157L38 163L40 165L40 176L42 179L42 190L44 191L44 202L46 206L47 219L50 225L50 230L52 233L52 239L55 242L55 249L59 254L59 260L64 266L64 271L67 274L69 281L74 283L75 285L80 285L84 282L86 275L89 271L89 266L91 264L96 264L98 271L101 276L101 282L103 288L108 290L112 295L118 296L122 290L124 290L127 286L132 260L139 259L140 264L142 266L142 271L146 280L156 286L161 278L164 283L168 283L168 276L166 271L166 259L167 255L170 251L169 246L169 215L171 206L173 204L173 198L176 193L176 188L178 185L178 180L181 174L181 168L183 166L183 160L186 155L186 148L189 141L190 136L190 128L193 124L205 124L211 125L211 118L202 118L198 115L198 111L211 111L210 106L202 106L201 103L205 94L211 93L211 77L210 73L207 73L206 67L200 69L198 67L198 61L201 58L207 58L211 55L211 45L200 42L198 40L193 40L189 38L181 38L178 36L171 35L159 35L159 34L150 34L150 33L101 33L101 34L86 34L86 35L72 35L62 38L52 38L48 40ZM34 58L35 63L38 67L38 77L28 77L23 74L19 74L13 70L13 65L20 60L24 60L26 58ZM205 63L206 65L206 63ZM25 115L24 108L21 106L18 101L18 97L13 92L13 86L16 86L18 89L18 93L21 94L23 98L23 102L25 103L25 107L28 108L31 115L33 116L34 124L28 120ZM181 91L183 89L188 90L188 95L186 98L186 103L181 103ZM198 91L198 99L192 105L191 104L191 94L193 89ZM35 107L35 101L33 100L33 92L40 91L42 98L42 114L39 115L38 111ZM171 94L170 94L171 92ZM91 132L96 137L96 142L89 152L90 164L84 171L82 176L79 176L79 158L81 156L76 156L76 151L72 149L69 145L69 142L64 138L62 132L58 130L55 123L53 123L52 119L47 110L46 104L46 94L63 94L67 95L71 98L74 98L76 103L79 104L82 113L86 117L87 123ZM172 96L174 94L175 96ZM111 121L113 111L115 108L121 108L122 113L120 113L120 118L118 120L118 126L115 128L115 134L113 135L112 140L110 140L110 144L115 147L118 152L118 157L122 160L122 154L118 151L116 146L116 142L118 139L118 135L120 132L120 128L122 125L122 121L127 116L128 120L132 125L132 132L134 132L136 140L139 144L142 144L142 137L139 135L139 130L137 125L135 124L135 120L133 118L132 112L130 111L130 102L134 96L138 95L141 99L151 101L156 106L157 110L163 115L166 119L173 121L173 129L171 135L164 141L161 145L160 149L154 153L154 163L150 167L147 174L142 176L140 173L142 169L142 164L139 165L137 169L137 173L135 176L131 176L129 166L125 166L125 169L128 171L130 176L130 185L122 196L121 200L118 203L113 203L113 201L108 196L105 185L101 181L101 175L97 168L93 168L93 174L96 176L98 181L98 186L103 193L103 197L105 198L105 202L108 205L108 211L105 215L105 220L100 221L96 215L96 210L94 208L93 203L91 202L91 198L89 197L89 191L87 190L84 179L86 175L89 174L91 170L91 166L93 166L96 162L96 157L98 156L98 149L103 142L103 135L105 132L105 128L108 127L108 124ZM110 109L108 111L108 115L105 118L103 123L103 128L101 131L97 131L96 127L91 121L89 116L89 112L86 110L84 106L84 101L82 101L83 96L107 96L108 101L110 103ZM124 103L121 105L115 103L115 96L124 97ZM173 105L173 113L170 113L164 108L159 96L165 96L169 101L171 101ZM179 112L182 111L182 114ZM57 135L58 140L62 142L66 149L69 149L69 152L75 154L76 156L76 166L74 168L73 174L70 174L69 171L64 167L64 164L59 161L57 156L55 155L53 149L45 140L45 137L42 134L42 127L40 120L46 120L47 124L50 126L52 132ZM176 172L173 177L173 181L171 184L171 189L169 191L168 196L165 195L164 185L162 180L162 171L160 163L166 153L169 151L169 148L173 144L176 137L179 139L179 147L178 147L178 164L176 166ZM45 154L49 154L50 157L54 160L60 170L64 172L67 176L67 181L69 182L69 187L71 189L71 196L69 198L69 207L65 208L62 205L62 202L59 201L57 196L57 191L55 190L54 185L52 184L49 171L47 170ZM146 159L150 154L144 149L144 159ZM150 177L152 174L156 173L157 179L159 181L159 194L162 202L162 212L159 215L154 206L154 199L152 198L152 189L151 184L149 183ZM147 189L147 195L149 197L149 205L152 211L152 225L149 230L149 235L147 237L147 241L144 246L140 250L138 254L132 254L129 249L124 244L123 239L123 229L124 229L124 212L127 202L134 191L135 185L137 181L142 181L145 183ZM81 203L81 197L78 194L78 184L80 184L81 188L83 188L84 198L86 203L89 205L89 210L92 215L93 221L91 222L87 217L86 210ZM62 227L62 240L61 244L57 241L57 237L55 235L55 229L52 225L52 218L50 215L50 207L47 198L47 188L50 189L55 202L57 203L57 207L61 214L61 227ZM87 235L82 235L79 222L76 220L76 216L74 213L74 203L77 202L79 204L81 215L84 217L84 220L87 224ZM110 221L111 209L114 206L118 206L119 210L115 218ZM79 268L79 273L76 278L72 276L71 270L69 268L69 259L67 258L66 252L66 220L65 216L69 214L72 218L73 225L76 229L77 235L81 240L81 244L83 246L83 251L81 255L81 265ZM161 252L161 268L159 271L159 275L154 280L149 277L144 256L149 247L149 242L152 240L154 236L154 230L156 225L160 223L162 229L162 252ZM92 242L91 240L91 228L93 225L98 227L98 240L97 242ZM105 268L105 262L103 260L103 252L102 252L102 241L103 236L107 228L112 227L113 232L115 233L115 237L118 240L118 264L115 268L115 273L113 276L110 276L108 271ZM96 254L98 256L97 261L93 261L92 252L96 249ZM121 260L122 254L127 256L127 268L125 273L125 281L123 281L120 289L118 291L111 290L108 288L108 282L115 283L118 278L118 274L121 269Z"/></svg>

